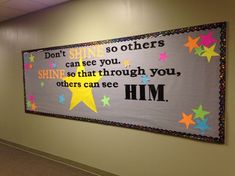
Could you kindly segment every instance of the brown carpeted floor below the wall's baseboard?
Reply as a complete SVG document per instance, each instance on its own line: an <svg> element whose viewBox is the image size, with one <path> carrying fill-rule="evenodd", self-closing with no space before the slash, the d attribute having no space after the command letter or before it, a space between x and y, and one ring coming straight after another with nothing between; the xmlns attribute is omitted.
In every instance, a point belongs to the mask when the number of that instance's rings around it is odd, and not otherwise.
<svg viewBox="0 0 235 176"><path fill-rule="evenodd" d="M0 176L97 176L0 143Z"/></svg>

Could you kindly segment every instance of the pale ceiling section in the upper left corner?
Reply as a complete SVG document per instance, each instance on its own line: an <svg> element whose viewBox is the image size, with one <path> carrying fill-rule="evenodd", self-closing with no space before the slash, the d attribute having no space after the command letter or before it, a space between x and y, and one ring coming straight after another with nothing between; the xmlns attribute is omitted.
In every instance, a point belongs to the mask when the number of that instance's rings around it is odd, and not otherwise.
<svg viewBox="0 0 235 176"><path fill-rule="evenodd" d="M0 22L69 0L0 0Z"/></svg>

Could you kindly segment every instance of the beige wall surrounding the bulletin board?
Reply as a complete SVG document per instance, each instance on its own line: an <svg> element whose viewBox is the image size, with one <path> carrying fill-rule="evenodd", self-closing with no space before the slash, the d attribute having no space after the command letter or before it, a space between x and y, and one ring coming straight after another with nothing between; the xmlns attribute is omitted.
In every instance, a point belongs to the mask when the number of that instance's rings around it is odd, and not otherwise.
<svg viewBox="0 0 235 176"><path fill-rule="evenodd" d="M0 23L0 138L122 176L235 173L233 0L77 0ZM228 22L226 144L24 113L21 50Z"/></svg>

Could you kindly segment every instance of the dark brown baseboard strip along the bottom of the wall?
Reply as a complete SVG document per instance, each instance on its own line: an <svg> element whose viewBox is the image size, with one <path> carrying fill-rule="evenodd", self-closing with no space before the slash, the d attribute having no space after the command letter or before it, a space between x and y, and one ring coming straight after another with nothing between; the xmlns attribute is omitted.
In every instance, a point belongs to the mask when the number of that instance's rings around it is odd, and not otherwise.
<svg viewBox="0 0 235 176"><path fill-rule="evenodd" d="M28 153L31 153L33 155L37 155L37 156L40 156L40 157L43 157L43 158L46 158L46 159L49 159L49 160L53 160L55 162L59 162L59 163L62 163L62 164L65 164L65 165L68 165L68 166L86 171L88 173L95 174L97 176L117 176L115 174L112 174L112 173L109 173L109 172L106 172L106 171L103 171L103 170L100 170L100 169L97 169L97 168L94 168L94 167L90 167L90 166L87 166L85 164L81 164L81 163L78 163L78 162L75 162L75 161L72 161L72 160L64 159L62 157L55 156L55 155L52 155L52 154L49 154L49 153L46 153L46 152L42 152L42 151L39 151L39 150L36 150L36 149L32 149L32 148L26 147L24 145L16 144L14 142L10 142L10 141L4 140L4 139L0 139L0 143L11 146L11 147L14 147L14 148L17 148L19 150L22 150L22 151L25 151L25 152L28 152Z"/></svg>

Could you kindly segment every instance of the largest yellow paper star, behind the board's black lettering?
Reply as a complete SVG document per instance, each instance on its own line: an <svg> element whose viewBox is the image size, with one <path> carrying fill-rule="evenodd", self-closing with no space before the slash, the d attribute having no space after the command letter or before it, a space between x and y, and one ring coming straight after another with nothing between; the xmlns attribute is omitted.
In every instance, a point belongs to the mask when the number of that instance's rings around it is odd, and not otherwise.
<svg viewBox="0 0 235 176"><path fill-rule="evenodd" d="M79 60L82 63L82 59ZM89 107L92 111L97 112L96 104L94 101L92 87L84 87L84 83L96 83L102 78L98 72L95 72L94 75L88 77L79 77L78 72L85 72L84 66L81 64L77 67L75 77L64 77L62 78L64 81L70 83L81 83L81 87L68 87L72 93L70 108L72 110L79 103L83 102L87 107Z"/></svg>

